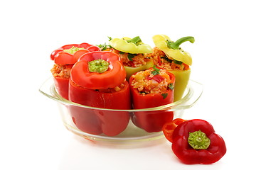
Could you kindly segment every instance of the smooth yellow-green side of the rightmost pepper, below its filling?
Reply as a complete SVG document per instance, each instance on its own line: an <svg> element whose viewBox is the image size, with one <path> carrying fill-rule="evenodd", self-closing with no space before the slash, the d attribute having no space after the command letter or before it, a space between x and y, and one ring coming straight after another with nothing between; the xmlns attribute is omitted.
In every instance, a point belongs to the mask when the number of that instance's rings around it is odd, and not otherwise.
<svg viewBox="0 0 256 170"><path fill-rule="evenodd" d="M174 101L178 101L182 98L183 93L188 85L188 80L191 74L191 69L187 70L168 70L175 76L174 84Z"/></svg>

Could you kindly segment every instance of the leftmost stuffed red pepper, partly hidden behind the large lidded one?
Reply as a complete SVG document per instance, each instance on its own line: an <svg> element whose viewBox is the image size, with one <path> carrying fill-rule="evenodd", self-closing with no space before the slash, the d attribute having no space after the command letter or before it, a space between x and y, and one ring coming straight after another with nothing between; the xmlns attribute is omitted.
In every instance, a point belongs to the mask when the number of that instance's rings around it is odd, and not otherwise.
<svg viewBox="0 0 256 170"><path fill-rule="evenodd" d="M100 47L88 43L64 45L54 50L50 59L55 62L50 70L53 74L55 88L60 96L68 99L68 79L70 78L70 69L78 61L79 57L90 51L99 51Z"/></svg>

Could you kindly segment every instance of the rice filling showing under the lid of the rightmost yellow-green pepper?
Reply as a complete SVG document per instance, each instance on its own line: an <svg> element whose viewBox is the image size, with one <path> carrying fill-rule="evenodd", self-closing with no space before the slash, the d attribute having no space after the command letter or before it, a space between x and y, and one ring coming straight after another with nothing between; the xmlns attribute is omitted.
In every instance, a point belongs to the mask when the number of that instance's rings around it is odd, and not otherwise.
<svg viewBox="0 0 256 170"><path fill-rule="evenodd" d="M154 47L153 52L147 55L152 57L156 67L161 67L167 70L186 70L189 66L183 62L176 61L160 50L158 47Z"/></svg>

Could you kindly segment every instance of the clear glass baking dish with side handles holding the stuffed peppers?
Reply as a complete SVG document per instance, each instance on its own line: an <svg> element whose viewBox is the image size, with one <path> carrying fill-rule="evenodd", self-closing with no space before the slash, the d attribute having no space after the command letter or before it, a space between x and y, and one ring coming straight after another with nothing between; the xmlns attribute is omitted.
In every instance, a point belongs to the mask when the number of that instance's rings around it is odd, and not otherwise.
<svg viewBox="0 0 256 170"><path fill-rule="evenodd" d="M173 113L174 118L182 118L183 113L186 109L194 106L198 98L201 97L203 92L203 85L190 80L186 88L183 98L174 103L168 105L159 106L155 108L145 108L145 109L131 109L131 110L116 110L116 109L106 109L106 108L94 108L90 106L83 106L78 103L73 103L61 97L55 90L53 83L53 78L50 77L47 79L40 87L39 91L47 96L53 101L57 101L61 118L65 128L73 132L75 135L84 137L87 140L92 142L110 142L114 144L128 144L128 143L138 143L138 142L149 142L153 140L160 140L164 137L163 132L146 132L145 130L138 128L137 125L134 125L131 118L134 115L154 115L157 113ZM94 122L88 121L86 118L89 114L95 114L99 116L108 116L115 115L119 113L127 113L131 116L127 120L127 125L123 127L122 132L119 135L107 136L104 133L94 134L94 132L88 131L88 128L94 128ZM112 121L111 116L109 116L108 121L110 123L105 123L104 125L112 125L113 128L115 125L118 125L117 121ZM86 126L86 130L83 130L83 126Z"/></svg>

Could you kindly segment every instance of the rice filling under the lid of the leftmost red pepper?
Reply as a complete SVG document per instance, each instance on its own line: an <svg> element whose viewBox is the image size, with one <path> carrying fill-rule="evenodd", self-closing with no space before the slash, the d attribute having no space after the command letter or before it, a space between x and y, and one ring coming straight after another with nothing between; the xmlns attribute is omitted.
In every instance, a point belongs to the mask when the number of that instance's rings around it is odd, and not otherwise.
<svg viewBox="0 0 256 170"><path fill-rule="evenodd" d="M73 64L54 64L53 68L50 69L50 72L52 72L53 77L60 77L63 79L69 79L70 78L70 70L73 67Z"/></svg>

